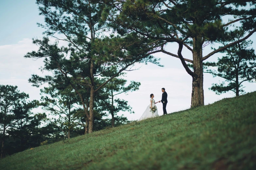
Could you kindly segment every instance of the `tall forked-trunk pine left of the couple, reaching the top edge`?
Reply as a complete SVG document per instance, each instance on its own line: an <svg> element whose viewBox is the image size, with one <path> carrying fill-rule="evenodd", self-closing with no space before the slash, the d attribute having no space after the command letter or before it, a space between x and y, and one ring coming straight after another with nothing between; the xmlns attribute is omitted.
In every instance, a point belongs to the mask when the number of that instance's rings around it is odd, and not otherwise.
<svg viewBox="0 0 256 170"><path fill-rule="evenodd" d="M66 47L58 43L51 44L48 37L34 39L33 43L39 50L27 53L26 58L44 58L42 70L53 73L40 77L32 75L29 82L39 87L44 83L70 85L80 98L85 116L88 119L88 132L93 132L94 94L112 78L129 66L141 62L158 64L158 60L150 56L157 51L149 51L155 47L151 40L133 41L134 35L126 37L104 35L105 23L102 21L104 6L100 1L91 0L37 0L40 15L45 18L45 24L39 24L47 36L68 42ZM60 34L62 38L58 38ZM148 45L150 43L150 45ZM146 48L140 48L140 47ZM97 76L111 65L118 66L118 72L100 85L95 84ZM84 103L80 89L89 88L89 106ZM89 109L88 109L89 108Z"/></svg>

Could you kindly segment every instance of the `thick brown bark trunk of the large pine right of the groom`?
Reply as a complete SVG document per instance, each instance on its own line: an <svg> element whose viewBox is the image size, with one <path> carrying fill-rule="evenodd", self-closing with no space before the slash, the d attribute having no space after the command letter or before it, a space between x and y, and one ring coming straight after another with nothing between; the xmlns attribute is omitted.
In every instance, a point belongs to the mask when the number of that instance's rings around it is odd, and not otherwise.
<svg viewBox="0 0 256 170"><path fill-rule="evenodd" d="M201 38L193 38L193 65L195 76L192 79L191 107L204 105L203 62Z"/></svg>

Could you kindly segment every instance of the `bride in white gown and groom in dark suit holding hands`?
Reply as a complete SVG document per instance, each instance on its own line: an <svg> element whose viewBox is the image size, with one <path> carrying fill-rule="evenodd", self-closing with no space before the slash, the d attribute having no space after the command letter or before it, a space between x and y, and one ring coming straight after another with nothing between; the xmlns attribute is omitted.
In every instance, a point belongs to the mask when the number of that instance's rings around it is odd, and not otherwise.
<svg viewBox="0 0 256 170"><path fill-rule="evenodd" d="M167 114L166 111L166 105L167 105L167 93L165 92L165 89L162 88L162 100L155 102L154 98L154 94L150 94L150 105L147 106L145 112L142 114L141 118L138 120L144 120L144 119L148 119L148 118L154 118L154 117L158 117L158 110L155 104L162 102L163 104L163 114ZM155 112L154 112L155 111Z"/></svg>

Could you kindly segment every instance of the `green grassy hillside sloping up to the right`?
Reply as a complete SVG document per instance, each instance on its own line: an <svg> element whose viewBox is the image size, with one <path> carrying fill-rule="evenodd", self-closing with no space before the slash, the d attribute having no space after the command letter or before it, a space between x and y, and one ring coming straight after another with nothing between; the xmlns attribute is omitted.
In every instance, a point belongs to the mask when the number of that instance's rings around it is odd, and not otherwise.
<svg viewBox="0 0 256 170"><path fill-rule="evenodd" d="M256 169L255 125L252 92L19 152L0 169Z"/></svg>

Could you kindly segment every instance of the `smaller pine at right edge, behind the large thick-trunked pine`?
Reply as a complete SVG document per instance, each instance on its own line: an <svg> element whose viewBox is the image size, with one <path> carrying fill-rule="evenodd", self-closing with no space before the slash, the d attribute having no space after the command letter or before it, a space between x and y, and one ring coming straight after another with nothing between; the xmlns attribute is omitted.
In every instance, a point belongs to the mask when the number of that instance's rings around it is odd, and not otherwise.
<svg viewBox="0 0 256 170"><path fill-rule="evenodd" d="M223 45L226 45L223 43ZM204 73L210 73L213 77L224 78L222 83L214 83L210 90L216 94L232 91L239 96L244 92L242 83L253 82L256 78L256 55L254 49L250 48L252 41L243 41L233 45L222 53L226 55L218 58L218 62L204 63ZM213 68L213 69L211 69ZM226 84L225 82L228 82Z"/></svg>

